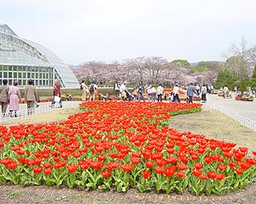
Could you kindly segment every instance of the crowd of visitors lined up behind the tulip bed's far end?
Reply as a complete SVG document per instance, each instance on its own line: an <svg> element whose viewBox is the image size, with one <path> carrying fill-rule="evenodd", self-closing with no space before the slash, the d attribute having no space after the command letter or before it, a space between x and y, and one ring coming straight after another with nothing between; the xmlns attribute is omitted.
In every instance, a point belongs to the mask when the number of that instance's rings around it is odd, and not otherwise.
<svg viewBox="0 0 256 204"><path fill-rule="evenodd" d="M150 101L150 102L161 102L163 100L169 100L170 102L180 102L179 99L179 90L182 90L183 93L187 96L187 102L193 103L193 98L202 99L202 103L207 101L207 93L211 92L210 86L207 84L202 84L199 86L198 84L191 83L189 86L179 86L178 83L175 83L174 86L170 88L166 88L159 84L158 86L152 86L151 84L144 85L142 81L138 81L137 85L134 88L127 87L127 81L123 81L123 83L119 83L119 81L114 82L113 86L113 97L119 98L122 101ZM90 87L95 84L92 83ZM81 87L86 87L84 81L81 81ZM89 87L89 89L91 89ZM82 89L82 88L81 88ZM87 87L82 89L82 97L81 99L84 100L86 93L90 97L90 100L95 100L95 94L91 92ZM95 90L96 92L96 90ZM111 97L107 93L106 95L100 94L100 100L111 100Z"/></svg>

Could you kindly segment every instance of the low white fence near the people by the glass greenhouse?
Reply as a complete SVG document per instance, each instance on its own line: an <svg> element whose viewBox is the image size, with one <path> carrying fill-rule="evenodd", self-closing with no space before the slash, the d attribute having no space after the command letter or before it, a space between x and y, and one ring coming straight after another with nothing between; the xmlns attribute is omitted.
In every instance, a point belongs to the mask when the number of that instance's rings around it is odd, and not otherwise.
<svg viewBox="0 0 256 204"><path fill-rule="evenodd" d="M63 108L62 109L67 109L67 108L75 108L78 107L79 104L81 104L81 101L63 101ZM0 118L0 123L3 121L11 120L14 118L24 118L24 117L30 117L31 115L35 114L42 114L42 113L47 113L47 112L52 112L56 109L59 109L59 104L54 104L54 106L49 106L49 105L40 105L38 108L34 109L19 109L16 112L16 117L14 111L12 111L11 114L7 114L5 116L2 116ZM7 110L8 113L8 110Z"/></svg>

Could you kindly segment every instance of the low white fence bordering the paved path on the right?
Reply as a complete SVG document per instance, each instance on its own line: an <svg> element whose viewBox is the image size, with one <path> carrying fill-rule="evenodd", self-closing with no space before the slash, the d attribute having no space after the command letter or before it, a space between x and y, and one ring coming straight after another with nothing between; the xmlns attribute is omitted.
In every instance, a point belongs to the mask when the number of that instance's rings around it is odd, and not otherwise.
<svg viewBox="0 0 256 204"><path fill-rule="evenodd" d="M244 116L241 116L240 114L236 114L235 112L231 111L230 109L226 109L225 107L221 105L213 105L213 104L203 104L203 109L216 109L220 111L223 114L226 114L230 118L235 119L236 122L244 125L245 127L248 127L249 129L256 132L256 121L251 120L249 118L245 118Z"/></svg>

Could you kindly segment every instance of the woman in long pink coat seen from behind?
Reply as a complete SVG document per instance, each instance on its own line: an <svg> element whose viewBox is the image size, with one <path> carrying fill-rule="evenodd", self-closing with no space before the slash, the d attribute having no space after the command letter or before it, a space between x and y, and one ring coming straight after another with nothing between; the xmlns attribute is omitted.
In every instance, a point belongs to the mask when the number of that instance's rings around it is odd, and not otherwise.
<svg viewBox="0 0 256 204"><path fill-rule="evenodd" d="M19 101L21 101L21 91L18 88L18 82L14 81L13 86L8 91L10 98L10 115L11 117L18 117L17 111L19 110Z"/></svg>

